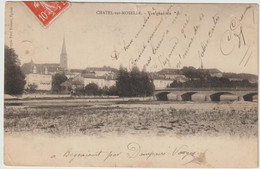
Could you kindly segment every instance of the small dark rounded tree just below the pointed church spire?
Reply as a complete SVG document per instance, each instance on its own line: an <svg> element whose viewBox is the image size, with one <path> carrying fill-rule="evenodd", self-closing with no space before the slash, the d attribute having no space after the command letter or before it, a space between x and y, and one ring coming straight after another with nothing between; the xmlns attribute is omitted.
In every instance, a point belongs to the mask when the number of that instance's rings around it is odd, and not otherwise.
<svg viewBox="0 0 260 169"><path fill-rule="evenodd" d="M68 78L65 73L56 73L52 76L52 91L55 93L60 93L62 91L61 84L65 82Z"/></svg>

